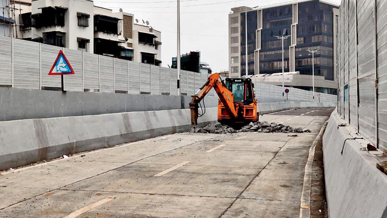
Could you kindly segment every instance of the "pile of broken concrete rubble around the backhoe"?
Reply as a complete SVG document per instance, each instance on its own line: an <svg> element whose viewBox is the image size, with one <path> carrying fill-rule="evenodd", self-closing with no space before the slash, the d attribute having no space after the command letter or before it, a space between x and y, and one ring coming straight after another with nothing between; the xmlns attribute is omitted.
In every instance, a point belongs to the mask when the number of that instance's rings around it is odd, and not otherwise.
<svg viewBox="0 0 387 218"><path fill-rule="evenodd" d="M215 133L215 134L225 134L225 133L235 133L235 132L281 132L281 133L303 133L310 132L310 130L303 130L301 127L292 128L290 126L277 124L277 123L268 123L267 121L257 121L255 123L251 122L249 125L243 126L240 129L234 129L227 125L222 125L221 123L209 124L204 127L198 128L197 132L199 133Z"/></svg>

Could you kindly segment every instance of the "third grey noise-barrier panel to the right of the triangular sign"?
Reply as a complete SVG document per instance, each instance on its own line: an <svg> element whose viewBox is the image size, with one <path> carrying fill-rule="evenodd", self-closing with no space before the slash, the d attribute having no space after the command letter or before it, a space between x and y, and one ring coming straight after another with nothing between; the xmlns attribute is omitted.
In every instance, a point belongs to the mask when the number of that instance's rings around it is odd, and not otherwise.
<svg viewBox="0 0 387 218"><path fill-rule="evenodd" d="M100 92L114 92L113 58L99 55Z"/></svg>

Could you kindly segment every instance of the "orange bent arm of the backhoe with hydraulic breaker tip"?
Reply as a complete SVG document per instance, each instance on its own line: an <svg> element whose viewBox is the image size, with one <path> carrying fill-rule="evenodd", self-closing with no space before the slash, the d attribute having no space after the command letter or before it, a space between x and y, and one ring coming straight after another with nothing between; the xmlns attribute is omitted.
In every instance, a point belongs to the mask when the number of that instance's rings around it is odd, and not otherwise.
<svg viewBox="0 0 387 218"><path fill-rule="evenodd" d="M220 101L223 103L224 107L229 111L233 118L237 118L238 114L234 106L233 93L230 92L223 81L220 80L220 74L214 73L208 77L208 80L204 85L192 95L192 100L190 102L191 109L191 125L197 126L197 118L199 117L198 109L199 102L207 95L207 93L212 89L215 89L215 92L219 96Z"/></svg>

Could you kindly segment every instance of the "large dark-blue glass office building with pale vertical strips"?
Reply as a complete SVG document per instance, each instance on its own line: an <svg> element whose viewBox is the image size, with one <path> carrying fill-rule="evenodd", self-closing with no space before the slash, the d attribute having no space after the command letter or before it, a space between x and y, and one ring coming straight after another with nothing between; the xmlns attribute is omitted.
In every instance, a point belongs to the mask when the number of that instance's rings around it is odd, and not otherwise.
<svg viewBox="0 0 387 218"><path fill-rule="evenodd" d="M333 18L339 13L339 5L327 0L298 0L231 10L228 17L231 77L245 76L246 62L247 76L282 73L283 45L275 36L289 36L284 40L284 72L298 71L307 79L313 70L312 54L307 50L320 49L314 54L314 74L336 81ZM329 81L324 84L332 85L320 88L325 88L327 93L336 93L335 83ZM311 87L312 84L297 88L311 90Z"/></svg>

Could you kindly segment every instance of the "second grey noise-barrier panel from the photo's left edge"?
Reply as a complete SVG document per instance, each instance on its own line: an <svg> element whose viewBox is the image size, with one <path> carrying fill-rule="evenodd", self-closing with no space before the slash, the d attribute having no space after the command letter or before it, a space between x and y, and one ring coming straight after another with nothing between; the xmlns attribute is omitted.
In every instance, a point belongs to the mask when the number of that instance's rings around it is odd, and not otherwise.
<svg viewBox="0 0 387 218"><path fill-rule="evenodd" d="M12 40L14 88L40 89L40 54L39 43L26 40Z"/></svg>

